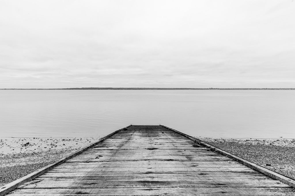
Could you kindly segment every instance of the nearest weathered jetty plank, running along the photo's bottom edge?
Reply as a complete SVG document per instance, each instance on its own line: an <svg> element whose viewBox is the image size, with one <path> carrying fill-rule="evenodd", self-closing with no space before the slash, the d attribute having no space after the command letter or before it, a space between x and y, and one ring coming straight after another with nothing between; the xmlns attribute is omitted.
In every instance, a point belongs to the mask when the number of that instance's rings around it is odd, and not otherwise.
<svg viewBox="0 0 295 196"><path fill-rule="evenodd" d="M273 187L145 187L145 188L75 188L75 189L19 189L16 194L31 195L286 195L292 188ZM171 194L170 194L171 193ZM15 194L10 194L15 195Z"/></svg>

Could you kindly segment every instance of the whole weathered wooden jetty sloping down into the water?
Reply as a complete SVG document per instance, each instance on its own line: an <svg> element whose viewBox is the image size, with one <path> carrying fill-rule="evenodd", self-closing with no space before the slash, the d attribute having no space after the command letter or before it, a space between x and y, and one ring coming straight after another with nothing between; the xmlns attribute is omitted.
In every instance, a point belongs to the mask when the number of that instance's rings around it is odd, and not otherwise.
<svg viewBox="0 0 295 196"><path fill-rule="evenodd" d="M295 195L294 187L176 130L130 125L1 187L0 195Z"/></svg>

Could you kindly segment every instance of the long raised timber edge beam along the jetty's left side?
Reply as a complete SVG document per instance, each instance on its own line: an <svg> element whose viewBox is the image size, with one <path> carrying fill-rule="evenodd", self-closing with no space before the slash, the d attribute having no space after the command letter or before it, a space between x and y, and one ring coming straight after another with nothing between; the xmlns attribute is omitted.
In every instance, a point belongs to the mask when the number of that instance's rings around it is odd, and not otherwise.
<svg viewBox="0 0 295 196"><path fill-rule="evenodd" d="M63 157L60 160L58 160L58 161L56 161L56 162L54 162L54 163L52 163L50 165L47 165L45 167L42 167L42 168L36 170L35 172L32 172L32 173L30 173L28 175L25 175L24 177L21 177L21 178L19 178L17 180L14 180L13 182L10 182L10 183L8 183L8 184L0 187L0 196L6 195L7 193L9 193L9 192L13 191L14 189L16 189L19 185L22 185L22 184L24 184L26 182L29 182L29 181L33 180L34 178L42 175L43 173L51 170L52 168L54 168L54 167L62 164L66 160L69 160L69 159L73 158L74 156L82 153L83 151L87 150L88 148L91 148L91 147L95 146L96 144L98 144L98 143L106 140L107 138L109 138L110 136L114 135L115 133L117 133L117 132L119 132L121 130L124 130L124 129L130 127L130 126L132 126L132 125L129 125L129 126L124 127L122 129L116 130L116 131L110 133L109 135L106 135L105 137L100 138L98 141L96 141L94 143L91 143L90 145L88 145L86 147L83 147L80 150L77 150L74 153Z"/></svg>

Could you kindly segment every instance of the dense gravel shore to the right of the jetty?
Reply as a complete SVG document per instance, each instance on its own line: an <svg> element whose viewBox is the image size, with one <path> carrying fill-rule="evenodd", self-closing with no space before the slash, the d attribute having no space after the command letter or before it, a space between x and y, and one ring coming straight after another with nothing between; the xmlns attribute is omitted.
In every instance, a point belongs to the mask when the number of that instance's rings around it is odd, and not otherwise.
<svg viewBox="0 0 295 196"><path fill-rule="evenodd" d="M295 139L198 138L229 153L295 179Z"/></svg>

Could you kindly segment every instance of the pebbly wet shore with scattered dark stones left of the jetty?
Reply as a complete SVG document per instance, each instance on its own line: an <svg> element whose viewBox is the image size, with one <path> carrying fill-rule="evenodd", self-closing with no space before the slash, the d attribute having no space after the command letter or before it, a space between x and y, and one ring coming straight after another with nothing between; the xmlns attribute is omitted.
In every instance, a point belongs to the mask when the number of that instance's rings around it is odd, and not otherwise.
<svg viewBox="0 0 295 196"><path fill-rule="evenodd" d="M98 140L98 138L1 138L0 187Z"/></svg>

